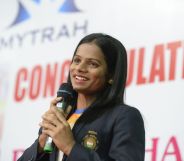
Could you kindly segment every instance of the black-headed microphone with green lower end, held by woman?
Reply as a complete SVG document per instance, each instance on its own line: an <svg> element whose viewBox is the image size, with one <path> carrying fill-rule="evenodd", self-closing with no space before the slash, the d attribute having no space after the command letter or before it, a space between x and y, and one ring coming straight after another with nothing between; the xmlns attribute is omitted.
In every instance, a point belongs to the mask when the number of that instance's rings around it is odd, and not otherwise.
<svg viewBox="0 0 184 161"><path fill-rule="evenodd" d="M71 104L71 100L73 98L73 88L69 83L63 83L59 87L57 91L57 97L62 97L62 100L57 102L56 107L58 110L65 110ZM54 143L52 142L52 138L50 136L47 137L44 152L51 153L53 151Z"/></svg>

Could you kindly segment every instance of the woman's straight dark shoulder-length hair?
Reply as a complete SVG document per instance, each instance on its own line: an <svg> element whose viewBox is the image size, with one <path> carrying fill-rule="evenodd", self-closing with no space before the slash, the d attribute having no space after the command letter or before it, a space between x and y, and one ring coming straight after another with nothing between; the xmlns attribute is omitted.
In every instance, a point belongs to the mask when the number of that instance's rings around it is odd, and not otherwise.
<svg viewBox="0 0 184 161"><path fill-rule="evenodd" d="M109 78L113 80L111 85L107 83L100 93L100 97L97 97L97 100L91 106L107 108L117 102L124 103L123 97L127 78L127 52L125 47L112 36L103 33L92 33L79 42L74 55L78 47L84 43L94 43L102 50L107 63ZM68 83L71 84L70 76L68 77Z"/></svg>

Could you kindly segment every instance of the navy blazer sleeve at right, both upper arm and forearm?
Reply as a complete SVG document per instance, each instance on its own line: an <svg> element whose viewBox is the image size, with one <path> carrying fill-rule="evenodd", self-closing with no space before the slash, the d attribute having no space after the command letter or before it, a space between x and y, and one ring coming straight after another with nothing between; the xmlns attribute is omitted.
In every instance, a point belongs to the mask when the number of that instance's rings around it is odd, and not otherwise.
<svg viewBox="0 0 184 161"><path fill-rule="evenodd" d="M66 158L67 161L144 161L145 131L140 112L135 108L120 110L114 127L108 160L100 158L95 151L90 151L76 143ZM104 145L105 146L105 145Z"/></svg>

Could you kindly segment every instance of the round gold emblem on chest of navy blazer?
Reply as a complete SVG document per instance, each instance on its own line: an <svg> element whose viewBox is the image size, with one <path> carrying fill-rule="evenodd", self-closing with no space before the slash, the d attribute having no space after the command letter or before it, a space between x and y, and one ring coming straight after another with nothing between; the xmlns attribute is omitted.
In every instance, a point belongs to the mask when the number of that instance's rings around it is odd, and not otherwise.
<svg viewBox="0 0 184 161"><path fill-rule="evenodd" d="M88 149L96 150L98 147L97 132L88 131L87 135L83 138L82 144Z"/></svg>

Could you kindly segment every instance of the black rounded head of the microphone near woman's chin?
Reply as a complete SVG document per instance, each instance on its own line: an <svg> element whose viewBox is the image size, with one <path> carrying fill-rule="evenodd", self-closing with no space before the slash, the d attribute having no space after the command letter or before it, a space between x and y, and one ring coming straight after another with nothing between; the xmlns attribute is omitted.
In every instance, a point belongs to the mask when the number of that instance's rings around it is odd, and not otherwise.
<svg viewBox="0 0 184 161"><path fill-rule="evenodd" d="M73 98L73 87L69 83L63 83L57 91L57 97L62 97L65 101Z"/></svg>

